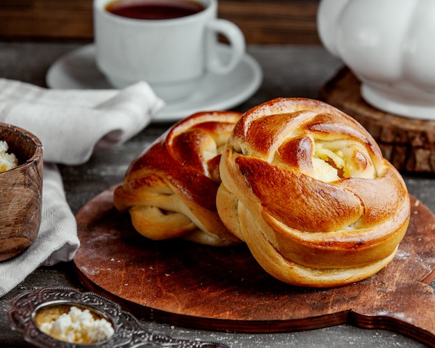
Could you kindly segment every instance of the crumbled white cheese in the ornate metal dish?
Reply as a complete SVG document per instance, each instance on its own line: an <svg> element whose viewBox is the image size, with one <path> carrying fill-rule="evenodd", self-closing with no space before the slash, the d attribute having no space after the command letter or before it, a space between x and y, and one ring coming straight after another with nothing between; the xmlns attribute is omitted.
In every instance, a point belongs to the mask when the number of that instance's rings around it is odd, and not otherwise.
<svg viewBox="0 0 435 348"><path fill-rule="evenodd" d="M75 306L56 320L41 324L40 329L58 340L82 344L107 340L115 333L106 319L95 320L88 309L81 310Z"/></svg>

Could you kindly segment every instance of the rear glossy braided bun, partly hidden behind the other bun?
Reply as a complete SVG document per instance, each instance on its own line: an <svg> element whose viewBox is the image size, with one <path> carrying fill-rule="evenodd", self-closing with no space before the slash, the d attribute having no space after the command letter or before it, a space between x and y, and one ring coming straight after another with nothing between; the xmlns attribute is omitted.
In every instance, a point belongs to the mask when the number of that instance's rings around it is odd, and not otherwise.
<svg viewBox="0 0 435 348"><path fill-rule="evenodd" d="M172 126L131 163L115 189L115 207L128 210L134 228L153 240L240 242L216 210L220 154L240 116L197 113Z"/></svg>

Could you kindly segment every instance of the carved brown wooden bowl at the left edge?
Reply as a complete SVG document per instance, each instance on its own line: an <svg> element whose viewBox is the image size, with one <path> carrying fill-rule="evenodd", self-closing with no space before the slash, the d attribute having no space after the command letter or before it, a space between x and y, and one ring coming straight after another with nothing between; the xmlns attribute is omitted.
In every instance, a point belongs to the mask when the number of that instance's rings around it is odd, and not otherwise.
<svg viewBox="0 0 435 348"><path fill-rule="evenodd" d="M41 223L42 144L35 135L0 123L18 166L0 173L0 261L21 254L35 240Z"/></svg>

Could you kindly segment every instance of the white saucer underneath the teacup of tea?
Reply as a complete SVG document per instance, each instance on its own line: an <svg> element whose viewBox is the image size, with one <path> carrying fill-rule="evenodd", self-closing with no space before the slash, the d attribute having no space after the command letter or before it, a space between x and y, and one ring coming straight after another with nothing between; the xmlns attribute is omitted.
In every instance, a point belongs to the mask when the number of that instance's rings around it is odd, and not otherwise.
<svg viewBox="0 0 435 348"><path fill-rule="evenodd" d="M222 59L229 49L221 44ZM231 74L207 74L194 94L188 98L168 102L156 115L158 121L174 121L198 111L229 110L252 96L263 80L260 65L248 54ZM49 88L56 89L107 89L106 78L95 65L95 46L88 44L60 57L49 68L46 76Z"/></svg>

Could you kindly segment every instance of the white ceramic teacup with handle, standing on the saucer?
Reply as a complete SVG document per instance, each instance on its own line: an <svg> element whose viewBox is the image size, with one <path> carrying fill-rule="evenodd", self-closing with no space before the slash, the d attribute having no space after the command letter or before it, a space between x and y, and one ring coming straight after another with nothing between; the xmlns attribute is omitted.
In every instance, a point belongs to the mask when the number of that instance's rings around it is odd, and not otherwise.
<svg viewBox="0 0 435 348"><path fill-rule="evenodd" d="M159 97L170 101L191 94L206 73L233 71L245 55L242 31L217 18L217 0L195 1L204 9L193 15L133 19L108 12L106 6L113 0L94 0L96 63L108 82L124 88L146 81ZM217 55L219 34L231 49L226 61Z"/></svg>

